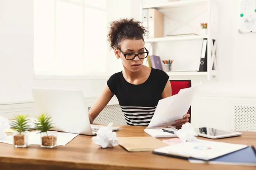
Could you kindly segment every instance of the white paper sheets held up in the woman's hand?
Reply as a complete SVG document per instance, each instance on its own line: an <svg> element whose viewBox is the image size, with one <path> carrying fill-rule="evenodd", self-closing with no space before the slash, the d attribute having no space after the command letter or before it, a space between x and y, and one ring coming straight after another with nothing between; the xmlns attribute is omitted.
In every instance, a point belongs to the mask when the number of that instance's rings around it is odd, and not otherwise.
<svg viewBox="0 0 256 170"><path fill-rule="evenodd" d="M178 94L159 100L147 128L172 126L175 120L182 119L183 115L188 112L198 87L184 88Z"/></svg>

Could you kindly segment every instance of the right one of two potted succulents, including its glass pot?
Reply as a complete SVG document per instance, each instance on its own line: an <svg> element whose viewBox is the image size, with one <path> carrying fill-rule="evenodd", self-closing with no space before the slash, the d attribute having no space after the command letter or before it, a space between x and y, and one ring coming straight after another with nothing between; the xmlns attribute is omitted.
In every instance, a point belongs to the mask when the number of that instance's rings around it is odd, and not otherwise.
<svg viewBox="0 0 256 170"><path fill-rule="evenodd" d="M52 127L51 117L47 114L41 114L35 119L35 127L39 130L41 136L41 147L56 147L57 146L57 131L49 131Z"/></svg>

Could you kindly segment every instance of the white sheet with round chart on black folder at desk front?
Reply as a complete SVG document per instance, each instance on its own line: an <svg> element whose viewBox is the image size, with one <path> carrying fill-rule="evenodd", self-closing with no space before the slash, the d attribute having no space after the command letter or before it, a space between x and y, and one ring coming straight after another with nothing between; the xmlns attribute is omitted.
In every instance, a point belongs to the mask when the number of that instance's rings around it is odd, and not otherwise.
<svg viewBox="0 0 256 170"><path fill-rule="evenodd" d="M246 147L248 146L245 144L230 144L224 142L198 140L198 142L182 142L179 144L158 148L155 149L153 153L182 159L195 158L209 161Z"/></svg>

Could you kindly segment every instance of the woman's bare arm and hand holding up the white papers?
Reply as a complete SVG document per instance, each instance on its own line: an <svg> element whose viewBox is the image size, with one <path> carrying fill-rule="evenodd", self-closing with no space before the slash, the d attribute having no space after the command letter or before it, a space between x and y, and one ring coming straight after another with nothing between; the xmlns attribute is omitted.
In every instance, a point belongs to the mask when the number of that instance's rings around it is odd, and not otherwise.
<svg viewBox="0 0 256 170"><path fill-rule="evenodd" d="M170 81L168 80L161 94L161 98L164 99L169 96L172 96L172 86ZM189 122L189 117L190 117L190 114L183 115L183 119L176 120L175 121L176 123L172 124L172 126L175 126L177 129L180 129L183 124L185 124L186 122Z"/></svg>

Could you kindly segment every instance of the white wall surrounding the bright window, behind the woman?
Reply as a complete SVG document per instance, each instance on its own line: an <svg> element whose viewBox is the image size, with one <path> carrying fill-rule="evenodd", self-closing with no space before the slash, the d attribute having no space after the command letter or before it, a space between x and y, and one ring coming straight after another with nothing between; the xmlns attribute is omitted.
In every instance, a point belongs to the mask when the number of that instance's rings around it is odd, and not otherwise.
<svg viewBox="0 0 256 170"><path fill-rule="evenodd" d="M140 0L107 2L108 23L140 16ZM122 70L113 51L108 61L110 74ZM85 97L96 98L107 79L33 79L33 0L0 0L0 103L31 101L32 87L78 88Z"/></svg>

